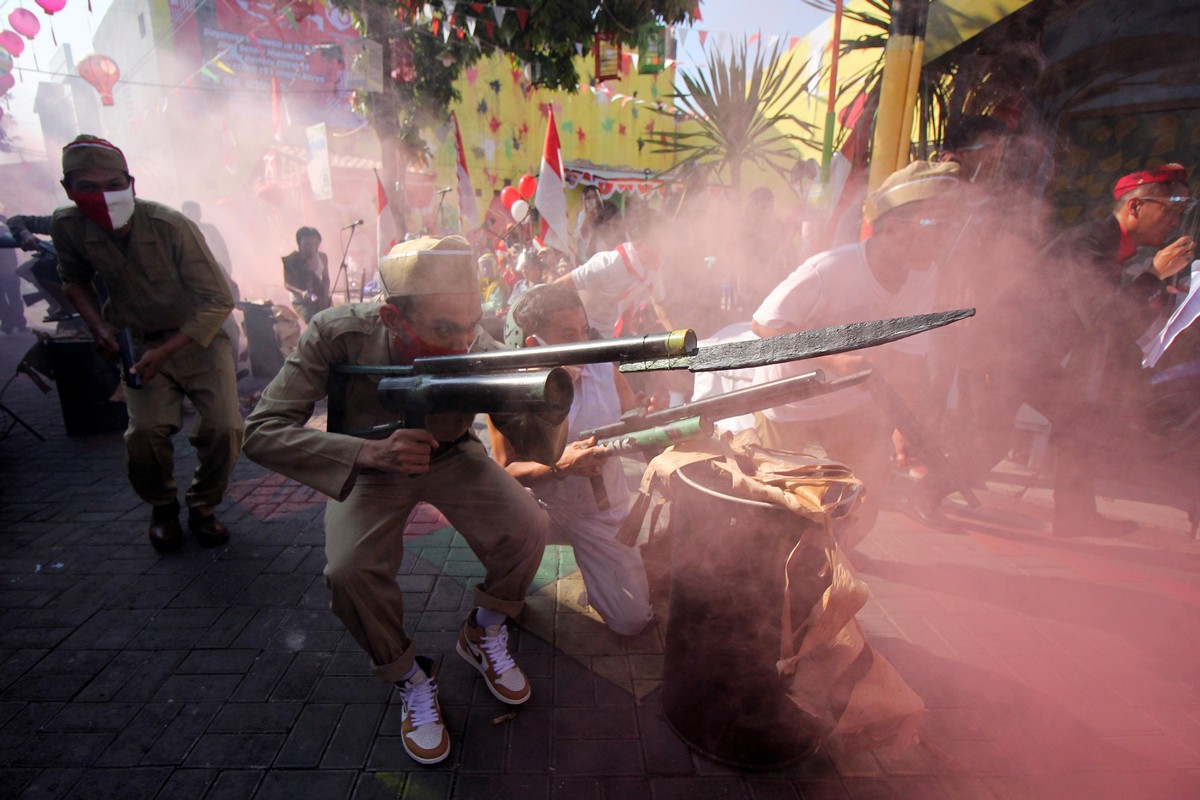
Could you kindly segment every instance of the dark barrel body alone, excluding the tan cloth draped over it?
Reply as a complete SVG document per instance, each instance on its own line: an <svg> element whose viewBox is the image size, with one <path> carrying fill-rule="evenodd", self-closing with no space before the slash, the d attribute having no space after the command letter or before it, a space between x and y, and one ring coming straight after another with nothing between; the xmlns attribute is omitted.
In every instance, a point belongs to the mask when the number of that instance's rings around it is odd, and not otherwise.
<svg viewBox="0 0 1200 800"><path fill-rule="evenodd" d="M746 768L793 763L820 730L775 662L784 565L814 523L719 488L707 463L674 475L662 709L689 745ZM728 483L728 480L725 481Z"/></svg>

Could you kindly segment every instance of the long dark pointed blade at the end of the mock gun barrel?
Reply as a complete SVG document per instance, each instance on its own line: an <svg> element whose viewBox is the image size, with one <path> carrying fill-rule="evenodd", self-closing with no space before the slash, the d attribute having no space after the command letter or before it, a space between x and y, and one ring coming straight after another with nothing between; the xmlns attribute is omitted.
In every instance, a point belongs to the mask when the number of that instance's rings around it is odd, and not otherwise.
<svg viewBox="0 0 1200 800"><path fill-rule="evenodd" d="M821 355L834 355L850 350L876 347L895 342L922 331L942 327L974 315L974 308L942 311L932 314L876 319L868 323L851 323L833 327L818 327L798 333L784 333L749 342L726 342L703 345L695 355L678 359L655 359L620 366L622 372L648 372L654 369L690 369L713 372L716 369L744 369L768 363L799 361Z"/></svg>

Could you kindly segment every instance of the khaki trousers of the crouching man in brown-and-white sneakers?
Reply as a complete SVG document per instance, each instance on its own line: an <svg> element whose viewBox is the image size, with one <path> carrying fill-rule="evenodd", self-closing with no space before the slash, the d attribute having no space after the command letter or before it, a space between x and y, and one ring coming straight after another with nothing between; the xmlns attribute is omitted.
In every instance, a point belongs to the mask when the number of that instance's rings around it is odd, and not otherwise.
<svg viewBox="0 0 1200 800"><path fill-rule="evenodd" d="M475 439L434 458L424 475L359 475L344 501L325 506L325 582L334 614L386 682L403 678L415 656L396 573L404 523L421 501L445 515L486 569L475 587L481 608L517 616L546 547L546 512Z"/></svg>

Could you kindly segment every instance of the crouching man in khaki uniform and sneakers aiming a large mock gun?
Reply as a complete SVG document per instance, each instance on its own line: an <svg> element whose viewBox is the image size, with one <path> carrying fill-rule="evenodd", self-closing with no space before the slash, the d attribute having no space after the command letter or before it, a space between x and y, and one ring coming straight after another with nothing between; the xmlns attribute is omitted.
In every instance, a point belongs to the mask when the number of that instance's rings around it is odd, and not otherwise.
<svg viewBox="0 0 1200 800"><path fill-rule="evenodd" d="M403 365L485 349L484 342L497 347L478 335L479 277L466 239L396 245L379 264L379 281L384 303L336 306L312 318L247 420L245 451L330 497L325 579L332 610L371 656L376 674L401 690L404 750L416 762L434 764L449 754L450 738L433 663L415 655L404 632L404 597L396 583L408 516L420 501L434 505L486 567L456 649L484 675L492 694L510 705L529 699L529 684L508 652L505 620L524 606L548 523L533 495L488 458L470 431L473 414L432 414L424 427L383 439L305 427L329 391L335 365ZM335 408L344 407L331 414L342 417L337 429L395 421L379 402L379 379L344 377L341 397L330 397ZM560 451L562 422L559 415L530 421L529 428L545 423L556 441L552 449Z"/></svg>

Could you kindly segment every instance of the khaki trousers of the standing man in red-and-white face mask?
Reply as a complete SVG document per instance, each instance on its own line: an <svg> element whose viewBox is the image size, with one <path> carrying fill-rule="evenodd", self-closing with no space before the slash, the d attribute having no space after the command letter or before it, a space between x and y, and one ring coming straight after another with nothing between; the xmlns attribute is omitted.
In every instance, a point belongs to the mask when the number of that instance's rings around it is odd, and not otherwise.
<svg viewBox="0 0 1200 800"><path fill-rule="evenodd" d="M126 468L133 491L151 505L168 505L178 499L172 437L184 423L184 397L196 407L188 441L199 461L185 499L190 509L209 513L221 503L241 452L238 378L224 332L218 332L206 348L190 343L168 359L142 389L125 387L130 413L130 427L125 431Z"/></svg>

